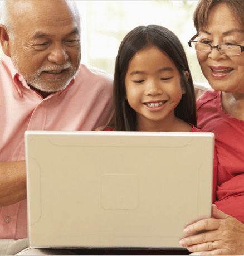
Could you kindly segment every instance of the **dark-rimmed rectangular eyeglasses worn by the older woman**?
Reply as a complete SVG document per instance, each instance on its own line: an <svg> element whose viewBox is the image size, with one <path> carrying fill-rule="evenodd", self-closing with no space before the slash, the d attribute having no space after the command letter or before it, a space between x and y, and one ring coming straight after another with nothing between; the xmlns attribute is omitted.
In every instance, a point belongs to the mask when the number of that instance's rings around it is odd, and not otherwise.
<svg viewBox="0 0 244 256"><path fill-rule="evenodd" d="M188 45L198 52L203 52L205 54L209 54L209 52L211 52L213 48L216 48L222 55L236 56L236 55L240 55L244 51L244 46L241 46L241 45L212 46L211 44L208 44L207 42L194 41L194 39L197 36L198 36L198 33L196 35L194 35L191 38L191 40L189 40Z"/></svg>

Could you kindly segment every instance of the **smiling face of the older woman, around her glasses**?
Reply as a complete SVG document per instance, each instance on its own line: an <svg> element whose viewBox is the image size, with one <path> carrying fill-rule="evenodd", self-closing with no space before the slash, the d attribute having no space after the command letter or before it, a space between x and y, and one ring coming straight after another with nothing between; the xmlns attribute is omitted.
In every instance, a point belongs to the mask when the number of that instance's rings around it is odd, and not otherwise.
<svg viewBox="0 0 244 256"><path fill-rule="evenodd" d="M244 46L244 26L232 15L225 3L209 13L208 26L199 30L198 40L212 46L237 44ZM197 52L202 72L215 90L244 93L244 52L237 56L222 55L217 49L209 54Z"/></svg>

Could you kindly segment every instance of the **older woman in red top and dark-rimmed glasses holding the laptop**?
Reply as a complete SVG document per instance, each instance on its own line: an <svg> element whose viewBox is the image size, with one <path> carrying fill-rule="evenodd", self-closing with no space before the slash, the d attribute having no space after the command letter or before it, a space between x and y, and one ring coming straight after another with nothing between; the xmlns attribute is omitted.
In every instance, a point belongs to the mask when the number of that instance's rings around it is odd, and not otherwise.
<svg viewBox="0 0 244 256"><path fill-rule="evenodd" d="M213 88L197 102L198 127L215 134L219 160L214 218L187 226L180 240L196 255L244 252L243 17L243 0L201 0L194 13L189 44Z"/></svg>

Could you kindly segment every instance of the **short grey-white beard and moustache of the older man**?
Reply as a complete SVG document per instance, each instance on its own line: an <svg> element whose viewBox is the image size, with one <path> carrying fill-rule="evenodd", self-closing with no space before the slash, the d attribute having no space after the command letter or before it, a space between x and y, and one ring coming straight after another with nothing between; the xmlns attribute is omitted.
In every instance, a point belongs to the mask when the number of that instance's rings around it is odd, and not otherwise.
<svg viewBox="0 0 244 256"><path fill-rule="evenodd" d="M16 53L12 54L11 59L18 73L23 76L23 78L27 81L28 84L30 84L33 88L36 88L40 91L44 91L46 93L53 93L55 91L61 91L65 89L70 84L70 81L78 71L75 67L72 66L71 62L66 62L65 64L53 64L52 66L43 66L40 67L40 69L38 69L35 73L27 75L22 72ZM43 80L41 78L41 73L43 71L62 69L68 69L68 72L66 71L67 73L65 77L48 79L48 81Z"/></svg>

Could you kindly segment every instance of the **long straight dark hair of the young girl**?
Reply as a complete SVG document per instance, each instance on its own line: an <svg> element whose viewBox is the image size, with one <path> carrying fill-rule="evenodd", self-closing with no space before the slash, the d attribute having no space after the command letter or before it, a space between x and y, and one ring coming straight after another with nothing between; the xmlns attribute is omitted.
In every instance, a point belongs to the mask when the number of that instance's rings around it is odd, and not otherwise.
<svg viewBox="0 0 244 256"><path fill-rule="evenodd" d="M130 31L121 42L115 63L114 74L114 123L115 131L135 131L136 112L125 99L125 76L129 62L139 51L156 46L173 61L179 71L182 86L186 91L175 108L175 116L187 123L197 125L196 103L192 76L187 57L177 36L165 27L158 25L139 26ZM185 71L189 78L186 79Z"/></svg>

